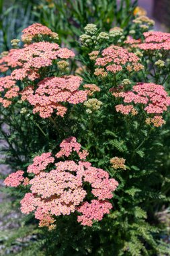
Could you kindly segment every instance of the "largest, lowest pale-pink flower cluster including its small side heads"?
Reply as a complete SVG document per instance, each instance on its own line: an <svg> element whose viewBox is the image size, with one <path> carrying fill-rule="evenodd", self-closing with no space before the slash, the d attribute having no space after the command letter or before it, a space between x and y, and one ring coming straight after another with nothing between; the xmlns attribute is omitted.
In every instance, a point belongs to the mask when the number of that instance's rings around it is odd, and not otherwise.
<svg viewBox="0 0 170 256"><path fill-rule="evenodd" d="M71 151L77 151L79 154L81 150L81 145L75 137L65 139L60 145L61 151L65 148L67 156L70 156ZM91 226L93 220L101 220L104 214L109 214L112 204L107 199L113 197L112 192L118 182L110 179L108 172L92 167L89 162L73 160L56 162L54 169L47 171L48 164L53 162L51 153L44 153L36 156L34 163L28 166L28 173L33 172L35 176L26 183L30 184L30 192L26 193L21 201L24 214L34 212L35 218L40 220L40 226L47 226L49 229L54 228L55 216L77 212L81 214L77 221L82 225ZM20 185L26 180L23 174L22 171L10 174L12 178L9 175L5 184L11 187ZM84 183L92 188L93 199L90 203L85 201L87 191Z"/></svg>

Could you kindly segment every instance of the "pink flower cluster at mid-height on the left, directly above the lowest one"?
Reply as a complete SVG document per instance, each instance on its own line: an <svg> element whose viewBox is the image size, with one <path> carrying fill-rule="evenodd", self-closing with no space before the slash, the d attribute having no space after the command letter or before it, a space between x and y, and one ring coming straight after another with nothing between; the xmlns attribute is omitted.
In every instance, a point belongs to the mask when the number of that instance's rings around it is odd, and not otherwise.
<svg viewBox="0 0 170 256"><path fill-rule="evenodd" d="M60 102L78 104L87 100L87 92L79 90L81 77L68 75L63 77L46 77L34 91L33 86L26 87L21 92L22 100L28 100L34 106L33 113L40 113L40 117L47 118L57 110L56 115L63 117L67 108Z"/></svg>

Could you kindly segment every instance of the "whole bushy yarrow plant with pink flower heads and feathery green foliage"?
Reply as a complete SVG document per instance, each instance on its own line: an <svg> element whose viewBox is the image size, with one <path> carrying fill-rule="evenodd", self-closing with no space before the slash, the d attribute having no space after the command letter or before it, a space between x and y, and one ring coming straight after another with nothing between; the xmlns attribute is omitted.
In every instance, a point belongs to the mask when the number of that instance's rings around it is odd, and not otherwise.
<svg viewBox="0 0 170 256"><path fill-rule="evenodd" d="M1 139L17 170L4 183L25 226L50 230L36 229L42 255L169 255L157 219L169 201L169 33L149 31L143 11L85 25L85 3L84 34L77 13L69 38L36 23L1 54Z"/></svg>

